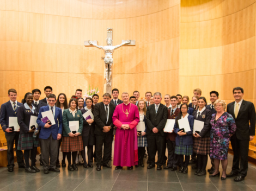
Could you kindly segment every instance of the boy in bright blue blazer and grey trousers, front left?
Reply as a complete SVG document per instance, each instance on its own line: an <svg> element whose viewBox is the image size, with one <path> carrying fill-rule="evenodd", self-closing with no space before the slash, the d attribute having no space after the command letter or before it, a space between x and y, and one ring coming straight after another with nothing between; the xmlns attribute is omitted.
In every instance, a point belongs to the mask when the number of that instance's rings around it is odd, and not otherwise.
<svg viewBox="0 0 256 191"><path fill-rule="evenodd" d="M40 148L45 174L48 174L49 170L59 173L59 169L56 168L56 162L59 149L59 139L62 138L62 109L55 106L56 95L48 95L48 103L48 105L41 107L38 119L36 120L36 123L38 123L38 126L41 128L39 139L41 143ZM44 123L41 121L41 113L45 111L52 111L55 125L50 125L50 122Z"/></svg>

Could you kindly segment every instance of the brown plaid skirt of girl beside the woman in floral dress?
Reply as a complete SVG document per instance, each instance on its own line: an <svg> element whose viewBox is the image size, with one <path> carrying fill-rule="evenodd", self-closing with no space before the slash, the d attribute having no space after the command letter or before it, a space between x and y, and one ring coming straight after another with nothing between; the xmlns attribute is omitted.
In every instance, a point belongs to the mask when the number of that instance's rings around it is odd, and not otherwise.
<svg viewBox="0 0 256 191"><path fill-rule="evenodd" d="M193 152L199 155L210 155L210 137L193 137Z"/></svg>

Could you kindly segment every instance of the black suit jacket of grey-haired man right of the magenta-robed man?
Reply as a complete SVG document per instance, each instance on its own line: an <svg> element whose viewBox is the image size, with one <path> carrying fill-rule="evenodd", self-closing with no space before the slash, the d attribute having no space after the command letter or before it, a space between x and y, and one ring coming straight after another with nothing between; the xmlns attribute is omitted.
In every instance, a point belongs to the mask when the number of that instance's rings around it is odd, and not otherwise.
<svg viewBox="0 0 256 191"><path fill-rule="evenodd" d="M166 125L168 116L168 108L160 103L159 109L155 110L155 104L148 106L146 113L146 123L147 123L147 135L155 136L161 135L164 136L163 128ZM153 129L157 128L159 132L154 133Z"/></svg>

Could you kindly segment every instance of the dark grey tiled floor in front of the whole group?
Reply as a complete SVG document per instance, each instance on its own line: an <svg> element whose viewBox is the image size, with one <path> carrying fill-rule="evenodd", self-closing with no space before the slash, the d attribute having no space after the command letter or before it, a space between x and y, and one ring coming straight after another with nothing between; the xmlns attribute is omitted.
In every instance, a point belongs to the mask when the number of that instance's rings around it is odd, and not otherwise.
<svg viewBox="0 0 256 191"><path fill-rule="evenodd" d="M60 155L62 153L60 152ZM39 156L37 157L39 159ZM229 155L228 172L231 170L233 156ZM144 158L146 163L147 158ZM109 162L110 163L110 162ZM113 165L113 161L111 161ZM179 174L178 171L138 167L133 170L114 170L103 168L96 171L94 168L86 169L78 167L78 171L69 171L60 168L60 173L50 171L44 174L39 160L36 167L41 171L36 174L25 173L24 169L17 168L9 173L7 168L0 168L0 190L46 190L46 191L71 191L71 190L121 190L121 191L156 191L156 190L190 190L190 191L214 191L214 190L255 190L256 191L256 168L249 164L248 175L245 181L234 182L233 178L222 181L220 177L209 178L209 174L203 177L194 175L194 170L189 167L188 174ZM210 168L210 162L208 162Z"/></svg>

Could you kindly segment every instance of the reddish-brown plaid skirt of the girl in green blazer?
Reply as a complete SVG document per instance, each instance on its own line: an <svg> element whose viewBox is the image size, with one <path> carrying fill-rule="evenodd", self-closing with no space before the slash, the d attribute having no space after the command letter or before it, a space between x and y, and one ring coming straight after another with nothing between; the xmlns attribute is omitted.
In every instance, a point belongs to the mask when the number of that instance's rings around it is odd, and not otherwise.
<svg viewBox="0 0 256 191"><path fill-rule="evenodd" d="M63 137L62 152L75 152L83 150L82 136L77 137Z"/></svg>

